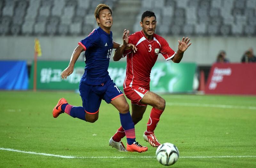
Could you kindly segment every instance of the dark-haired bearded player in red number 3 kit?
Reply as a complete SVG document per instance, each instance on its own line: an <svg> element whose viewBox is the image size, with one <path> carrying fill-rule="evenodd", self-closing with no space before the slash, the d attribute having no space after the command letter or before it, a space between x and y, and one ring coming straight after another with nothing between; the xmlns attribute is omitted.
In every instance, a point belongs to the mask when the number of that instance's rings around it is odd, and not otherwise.
<svg viewBox="0 0 256 168"><path fill-rule="evenodd" d="M191 43L189 43L190 39L183 37L181 41L178 41L178 51L174 52L163 37L155 34L156 16L152 11L146 11L142 14L140 26L142 30L129 37L127 37L129 31L124 32L123 45L115 51L113 59L118 61L122 57L127 57L124 93L131 100L134 124L137 124L142 119L147 105L153 107L143 137L151 146L158 147L160 143L156 139L154 130L161 114L164 112L165 100L149 91L150 72L159 53L163 55L166 61L172 60L175 63L179 63L183 53ZM124 51L128 43L136 46L136 53L132 50ZM124 129L120 127L116 134L110 138L109 145L116 148L113 144L121 142L124 136ZM118 148L116 149L118 150Z"/></svg>

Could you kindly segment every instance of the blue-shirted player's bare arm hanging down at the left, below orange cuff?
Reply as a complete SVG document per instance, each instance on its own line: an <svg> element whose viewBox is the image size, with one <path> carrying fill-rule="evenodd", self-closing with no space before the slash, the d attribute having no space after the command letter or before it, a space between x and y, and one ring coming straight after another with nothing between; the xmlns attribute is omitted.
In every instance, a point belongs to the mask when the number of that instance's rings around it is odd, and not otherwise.
<svg viewBox="0 0 256 168"><path fill-rule="evenodd" d="M61 73L61 78L62 79L67 79L67 77L73 73L74 71L74 66L76 63L76 60L78 59L79 55L84 51L84 47L81 45L78 45L76 47L76 49L74 50L74 52L72 53L70 62L68 64L68 67L66 69L64 69L64 71L62 71Z"/></svg>

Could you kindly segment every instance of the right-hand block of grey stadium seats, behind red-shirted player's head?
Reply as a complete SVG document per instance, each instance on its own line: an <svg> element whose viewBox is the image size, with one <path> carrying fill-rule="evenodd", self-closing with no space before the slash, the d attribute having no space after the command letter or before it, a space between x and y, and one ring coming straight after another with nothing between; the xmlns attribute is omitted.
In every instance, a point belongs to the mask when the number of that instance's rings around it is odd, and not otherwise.
<svg viewBox="0 0 256 168"><path fill-rule="evenodd" d="M163 6L157 30L162 35L256 35L255 0L164 0L155 5L143 0L141 3L143 11L156 11L158 6ZM140 30L136 24L133 31Z"/></svg>

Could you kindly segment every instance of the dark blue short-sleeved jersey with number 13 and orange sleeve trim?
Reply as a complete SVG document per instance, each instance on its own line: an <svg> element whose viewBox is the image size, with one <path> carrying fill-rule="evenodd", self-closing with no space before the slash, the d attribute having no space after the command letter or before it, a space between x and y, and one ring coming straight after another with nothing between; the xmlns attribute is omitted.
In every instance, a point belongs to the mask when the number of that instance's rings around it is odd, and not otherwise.
<svg viewBox="0 0 256 168"><path fill-rule="evenodd" d="M108 34L98 27L78 44L85 50L86 65L81 82L88 85L100 85L107 81L109 60L113 49L112 32Z"/></svg>

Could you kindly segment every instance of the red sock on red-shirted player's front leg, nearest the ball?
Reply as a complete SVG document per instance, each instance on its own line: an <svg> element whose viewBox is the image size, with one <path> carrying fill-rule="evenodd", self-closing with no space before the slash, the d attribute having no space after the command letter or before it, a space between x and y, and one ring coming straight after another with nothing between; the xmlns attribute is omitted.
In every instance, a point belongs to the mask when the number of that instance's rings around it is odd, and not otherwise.
<svg viewBox="0 0 256 168"><path fill-rule="evenodd" d="M146 133L152 133L156 129L156 125L159 122L160 116L164 110L158 110L156 108L152 108L150 112L150 116L147 123Z"/></svg>

